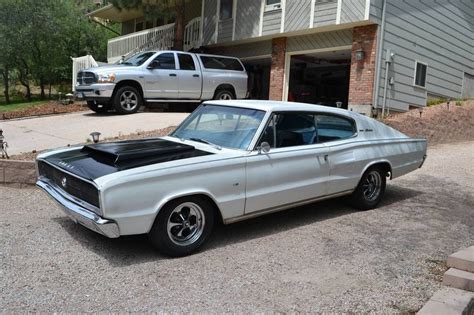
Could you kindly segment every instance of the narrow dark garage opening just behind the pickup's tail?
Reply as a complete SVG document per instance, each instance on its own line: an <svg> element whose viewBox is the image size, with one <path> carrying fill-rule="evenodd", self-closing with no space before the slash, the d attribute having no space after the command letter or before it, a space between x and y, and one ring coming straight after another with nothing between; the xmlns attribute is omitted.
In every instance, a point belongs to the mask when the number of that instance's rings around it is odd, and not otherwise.
<svg viewBox="0 0 474 315"><path fill-rule="evenodd" d="M259 58L252 60L242 60L249 76L248 90L250 99L268 100L270 95L270 68L272 60Z"/></svg>

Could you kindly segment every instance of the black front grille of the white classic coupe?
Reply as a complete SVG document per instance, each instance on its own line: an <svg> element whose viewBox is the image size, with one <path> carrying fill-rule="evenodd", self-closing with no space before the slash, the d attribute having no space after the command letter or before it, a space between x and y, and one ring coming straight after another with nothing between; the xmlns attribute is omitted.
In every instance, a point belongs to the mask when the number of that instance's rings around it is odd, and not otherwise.
<svg viewBox="0 0 474 315"><path fill-rule="evenodd" d="M38 172L40 176L47 178L68 194L99 208L99 192L94 185L62 172L43 161L38 161ZM65 185L63 185L64 180Z"/></svg>

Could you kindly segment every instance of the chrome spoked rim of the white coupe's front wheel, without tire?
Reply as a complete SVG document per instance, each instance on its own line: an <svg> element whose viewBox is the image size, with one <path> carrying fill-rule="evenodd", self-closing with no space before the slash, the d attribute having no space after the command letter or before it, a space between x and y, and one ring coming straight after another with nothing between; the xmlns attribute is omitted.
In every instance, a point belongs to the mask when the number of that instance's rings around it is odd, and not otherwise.
<svg viewBox="0 0 474 315"><path fill-rule="evenodd" d="M199 205L182 203L173 209L168 218L168 236L176 245L191 245L201 237L205 223L204 211Z"/></svg>

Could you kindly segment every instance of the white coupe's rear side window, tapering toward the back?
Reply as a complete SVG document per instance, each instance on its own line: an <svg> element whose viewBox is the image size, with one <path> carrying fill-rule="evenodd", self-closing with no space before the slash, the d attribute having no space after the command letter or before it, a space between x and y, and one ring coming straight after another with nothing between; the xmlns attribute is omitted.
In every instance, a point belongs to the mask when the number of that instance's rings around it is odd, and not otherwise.
<svg viewBox="0 0 474 315"><path fill-rule="evenodd" d="M317 114L315 121L317 143L347 139L356 133L354 122L347 118Z"/></svg>

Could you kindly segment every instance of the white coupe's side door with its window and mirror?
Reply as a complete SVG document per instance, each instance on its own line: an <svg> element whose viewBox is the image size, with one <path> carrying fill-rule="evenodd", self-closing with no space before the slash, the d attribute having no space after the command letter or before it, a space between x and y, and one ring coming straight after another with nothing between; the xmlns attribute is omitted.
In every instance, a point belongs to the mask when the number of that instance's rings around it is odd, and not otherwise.
<svg viewBox="0 0 474 315"><path fill-rule="evenodd" d="M310 201L327 195L329 150L315 143L314 115L275 113L259 143L270 152L247 157L245 213Z"/></svg>

